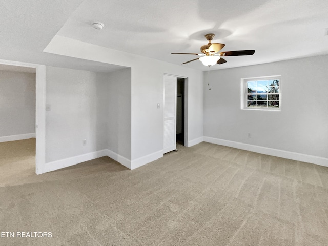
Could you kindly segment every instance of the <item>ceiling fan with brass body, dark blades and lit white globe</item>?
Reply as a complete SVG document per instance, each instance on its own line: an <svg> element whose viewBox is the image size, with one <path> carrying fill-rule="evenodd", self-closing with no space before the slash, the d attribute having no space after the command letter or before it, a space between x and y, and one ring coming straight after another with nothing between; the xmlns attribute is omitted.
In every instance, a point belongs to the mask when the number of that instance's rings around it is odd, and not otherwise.
<svg viewBox="0 0 328 246"><path fill-rule="evenodd" d="M205 37L209 41L207 45L203 45L200 47L200 51L202 54L197 53L171 53L171 54L182 54L182 55L198 55L201 56L199 58L186 61L186 63L190 63L194 60L200 60L205 66L213 66L215 64L223 64L226 63L227 60L223 59L221 56L239 56L239 55L253 55L255 50L235 50L235 51L224 51L218 53L225 45L220 43L212 43L212 39L214 38L213 33L206 34ZM182 63L182 64L186 64Z"/></svg>

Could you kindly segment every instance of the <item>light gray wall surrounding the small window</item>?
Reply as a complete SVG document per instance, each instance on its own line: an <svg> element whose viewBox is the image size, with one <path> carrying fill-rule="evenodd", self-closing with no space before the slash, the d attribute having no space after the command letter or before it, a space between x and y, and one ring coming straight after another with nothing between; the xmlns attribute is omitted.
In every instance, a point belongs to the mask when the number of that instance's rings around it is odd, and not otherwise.
<svg viewBox="0 0 328 246"><path fill-rule="evenodd" d="M204 136L327 158L327 65L317 56L206 72ZM267 75L281 75L281 111L241 110L240 79Z"/></svg>

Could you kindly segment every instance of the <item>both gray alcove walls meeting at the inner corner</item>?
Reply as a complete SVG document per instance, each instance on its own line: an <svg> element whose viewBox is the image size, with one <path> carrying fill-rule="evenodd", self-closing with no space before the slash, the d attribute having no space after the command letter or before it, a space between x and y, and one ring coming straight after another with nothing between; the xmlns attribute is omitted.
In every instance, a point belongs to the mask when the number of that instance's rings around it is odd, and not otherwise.
<svg viewBox="0 0 328 246"><path fill-rule="evenodd" d="M104 149L131 159L131 69L47 67L46 104L46 163Z"/></svg>

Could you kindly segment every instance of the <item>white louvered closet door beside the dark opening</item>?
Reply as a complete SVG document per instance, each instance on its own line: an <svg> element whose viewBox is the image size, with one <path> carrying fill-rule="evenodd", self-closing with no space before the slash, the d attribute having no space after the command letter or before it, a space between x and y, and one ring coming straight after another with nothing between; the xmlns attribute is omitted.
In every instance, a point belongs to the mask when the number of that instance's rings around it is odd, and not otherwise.
<svg viewBox="0 0 328 246"><path fill-rule="evenodd" d="M164 75L164 153L176 149L176 77Z"/></svg>

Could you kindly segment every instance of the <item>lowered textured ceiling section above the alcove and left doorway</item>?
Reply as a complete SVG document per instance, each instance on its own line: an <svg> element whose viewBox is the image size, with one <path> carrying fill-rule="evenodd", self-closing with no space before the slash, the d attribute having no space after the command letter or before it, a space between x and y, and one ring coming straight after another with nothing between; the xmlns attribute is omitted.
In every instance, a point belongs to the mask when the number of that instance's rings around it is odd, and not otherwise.
<svg viewBox="0 0 328 246"><path fill-rule="evenodd" d="M82 1L1 1L0 59L94 72L124 68L43 52Z"/></svg>

